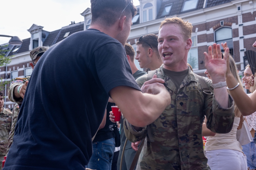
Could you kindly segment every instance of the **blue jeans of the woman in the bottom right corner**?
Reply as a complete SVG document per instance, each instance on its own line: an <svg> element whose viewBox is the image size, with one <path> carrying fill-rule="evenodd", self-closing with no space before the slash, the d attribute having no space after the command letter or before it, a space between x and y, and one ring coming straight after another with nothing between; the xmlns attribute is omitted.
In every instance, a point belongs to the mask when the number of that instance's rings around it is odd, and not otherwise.
<svg viewBox="0 0 256 170"><path fill-rule="evenodd" d="M246 145L243 145L243 153L247 156L247 166L250 169L256 169L256 147L252 141Z"/></svg>

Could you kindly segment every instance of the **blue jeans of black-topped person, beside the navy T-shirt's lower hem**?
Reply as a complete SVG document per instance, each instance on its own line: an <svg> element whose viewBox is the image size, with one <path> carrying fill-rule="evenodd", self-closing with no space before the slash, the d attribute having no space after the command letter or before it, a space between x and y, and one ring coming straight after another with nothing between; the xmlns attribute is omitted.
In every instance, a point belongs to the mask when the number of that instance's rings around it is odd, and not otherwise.
<svg viewBox="0 0 256 170"><path fill-rule="evenodd" d="M115 151L115 139L92 143L92 157L88 167L97 170L111 170L112 159Z"/></svg>

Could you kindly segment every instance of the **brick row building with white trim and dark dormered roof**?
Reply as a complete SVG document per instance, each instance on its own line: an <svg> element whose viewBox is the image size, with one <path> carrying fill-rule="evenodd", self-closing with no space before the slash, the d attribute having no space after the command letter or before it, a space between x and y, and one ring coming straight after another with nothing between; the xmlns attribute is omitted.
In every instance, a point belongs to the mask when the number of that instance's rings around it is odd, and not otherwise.
<svg viewBox="0 0 256 170"><path fill-rule="evenodd" d="M256 39L256 1L252 0L139 0L138 13L133 18L130 36L127 40L136 50L136 41L141 35L158 34L159 23L165 17L179 16L189 20L194 26L189 50L188 62L195 73L205 76L204 52L213 43L227 42L242 74L246 60L244 51L256 50L252 44ZM53 32L43 30L33 24L28 31L31 37L23 40L20 46L8 45L11 50L6 55L14 55L12 62L0 68L0 77L9 81L15 77L24 77L32 72L29 66L29 52L36 46L51 47L74 32L89 28L91 10L81 13L84 22L74 23ZM139 68L138 63L137 67ZM8 89L8 85L6 86ZM7 95L7 91L5 92ZM6 99L6 108L14 103Z"/></svg>

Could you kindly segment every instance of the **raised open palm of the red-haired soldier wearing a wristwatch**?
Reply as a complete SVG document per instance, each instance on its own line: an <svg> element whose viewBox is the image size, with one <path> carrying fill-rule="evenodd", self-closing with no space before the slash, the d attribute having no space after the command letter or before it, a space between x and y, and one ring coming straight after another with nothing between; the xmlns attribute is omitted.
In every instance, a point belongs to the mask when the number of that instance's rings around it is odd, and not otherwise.
<svg viewBox="0 0 256 170"><path fill-rule="evenodd" d="M208 53L204 52L205 68L211 75L212 83L225 81L228 54L229 48L227 47L225 50L225 55L222 59L220 45L216 43L208 47Z"/></svg>

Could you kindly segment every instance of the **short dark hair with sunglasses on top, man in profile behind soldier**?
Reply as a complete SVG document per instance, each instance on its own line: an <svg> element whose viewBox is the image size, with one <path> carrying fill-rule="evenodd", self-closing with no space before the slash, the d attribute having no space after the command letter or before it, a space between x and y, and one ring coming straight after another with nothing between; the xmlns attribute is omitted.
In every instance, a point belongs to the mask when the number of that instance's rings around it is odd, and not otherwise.
<svg viewBox="0 0 256 170"><path fill-rule="evenodd" d="M158 51L158 36L156 34L147 34L142 36L143 40L145 40L148 44L154 48L154 50ZM148 47L148 44L145 41L137 41L136 45L142 44L142 47Z"/></svg>

